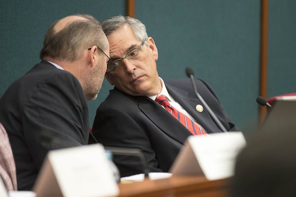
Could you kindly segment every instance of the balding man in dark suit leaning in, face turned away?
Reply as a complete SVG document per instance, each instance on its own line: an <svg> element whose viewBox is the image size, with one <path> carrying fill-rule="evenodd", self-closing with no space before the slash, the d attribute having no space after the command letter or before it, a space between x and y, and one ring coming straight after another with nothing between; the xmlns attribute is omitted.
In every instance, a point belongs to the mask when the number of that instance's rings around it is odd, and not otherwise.
<svg viewBox="0 0 296 197"><path fill-rule="evenodd" d="M18 190L32 189L49 150L87 144L87 100L101 89L107 54L109 43L97 20L65 17L48 29L42 61L1 97L0 122L11 143Z"/></svg>

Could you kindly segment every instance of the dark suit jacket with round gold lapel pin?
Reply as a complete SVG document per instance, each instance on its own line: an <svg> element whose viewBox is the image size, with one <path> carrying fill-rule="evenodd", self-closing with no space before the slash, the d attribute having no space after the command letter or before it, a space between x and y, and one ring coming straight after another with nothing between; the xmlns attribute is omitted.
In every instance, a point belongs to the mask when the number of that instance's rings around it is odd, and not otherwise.
<svg viewBox="0 0 296 197"><path fill-rule="evenodd" d="M235 130L212 88L201 80L195 82L199 94L224 127L228 131ZM195 106L202 103L196 98L189 79L165 80L165 85L169 94L207 132L221 132L205 107L201 113L196 111ZM142 150L150 171L167 172L191 133L148 97L128 96L114 89L97 109L93 135L105 146L138 148ZM142 164L136 157L114 155L114 163L121 176L143 173Z"/></svg>

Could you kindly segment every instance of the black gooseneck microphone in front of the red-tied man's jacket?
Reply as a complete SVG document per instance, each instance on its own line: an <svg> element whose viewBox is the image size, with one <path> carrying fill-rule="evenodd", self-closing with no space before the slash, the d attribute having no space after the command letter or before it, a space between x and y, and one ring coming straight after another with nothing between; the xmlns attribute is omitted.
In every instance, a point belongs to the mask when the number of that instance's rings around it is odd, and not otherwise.
<svg viewBox="0 0 296 197"><path fill-rule="evenodd" d="M191 79L193 90L194 90L194 93L195 93L196 97L198 99L200 99L200 101L206 107L206 109L209 111L210 115L212 116L212 118L214 119L214 121L216 122L216 124L220 127L220 129L223 132L227 132L227 130L225 129L225 127L222 125L222 123L217 118L217 116L214 114L214 112L209 107L209 105L206 103L206 101L200 96L200 94L198 94L197 89L196 89L196 85L195 85L195 82L194 82L194 77L193 77L194 72L193 72L193 70L190 67L186 67L186 75Z"/></svg>

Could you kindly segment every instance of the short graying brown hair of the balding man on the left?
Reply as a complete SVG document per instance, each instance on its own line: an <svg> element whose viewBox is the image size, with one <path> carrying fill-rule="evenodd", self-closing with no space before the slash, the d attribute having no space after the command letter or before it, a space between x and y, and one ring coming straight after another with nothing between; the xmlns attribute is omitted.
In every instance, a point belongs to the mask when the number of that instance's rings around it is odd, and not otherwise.
<svg viewBox="0 0 296 197"><path fill-rule="evenodd" d="M80 16L87 20L73 21L58 32L54 27L61 19L55 21L44 36L40 59L50 57L73 62L80 57L83 50L93 45L103 50L107 49L108 45L99 21L86 14L72 16Z"/></svg>

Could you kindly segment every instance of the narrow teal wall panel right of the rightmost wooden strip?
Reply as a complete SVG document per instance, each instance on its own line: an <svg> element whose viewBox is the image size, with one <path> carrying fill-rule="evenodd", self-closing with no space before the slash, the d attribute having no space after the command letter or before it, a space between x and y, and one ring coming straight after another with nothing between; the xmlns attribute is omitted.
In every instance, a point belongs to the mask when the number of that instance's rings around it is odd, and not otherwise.
<svg viewBox="0 0 296 197"><path fill-rule="evenodd" d="M268 97L296 93L295 10L295 0L269 0Z"/></svg>

